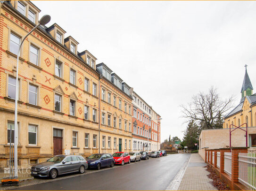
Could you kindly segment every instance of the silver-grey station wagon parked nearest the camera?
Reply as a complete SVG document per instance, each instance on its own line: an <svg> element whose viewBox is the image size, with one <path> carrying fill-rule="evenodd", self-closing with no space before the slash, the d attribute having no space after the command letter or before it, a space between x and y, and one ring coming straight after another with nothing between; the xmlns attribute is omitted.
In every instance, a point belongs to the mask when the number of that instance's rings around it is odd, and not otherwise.
<svg viewBox="0 0 256 191"><path fill-rule="evenodd" d="M87 161L82 156L56 155L46 162L33 165L31 168L31 175L56 178L58 175L71 172L84 173L87 168Z"/></svg>

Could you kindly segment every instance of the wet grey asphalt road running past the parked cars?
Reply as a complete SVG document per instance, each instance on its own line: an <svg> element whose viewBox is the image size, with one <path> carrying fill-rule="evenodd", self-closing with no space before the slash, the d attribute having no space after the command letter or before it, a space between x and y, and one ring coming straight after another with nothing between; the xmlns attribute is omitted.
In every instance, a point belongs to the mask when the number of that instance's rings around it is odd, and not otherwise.
<svg viewBox="0 0 256 191"><path fill-rule="evenodd" d="M190 154L170 154L16 190L165 190L189 158Z"/></svg>

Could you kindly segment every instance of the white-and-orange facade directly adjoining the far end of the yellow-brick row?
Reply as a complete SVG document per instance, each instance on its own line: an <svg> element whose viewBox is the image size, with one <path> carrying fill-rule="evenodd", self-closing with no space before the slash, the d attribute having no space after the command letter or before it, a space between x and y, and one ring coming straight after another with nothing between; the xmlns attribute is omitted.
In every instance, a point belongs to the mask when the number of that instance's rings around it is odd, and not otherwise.
<svg viewBox="0 0 256 191"><path fill-rule="evenodd" d="M132 92L132 150L151 151L151 107Z"/></svg>

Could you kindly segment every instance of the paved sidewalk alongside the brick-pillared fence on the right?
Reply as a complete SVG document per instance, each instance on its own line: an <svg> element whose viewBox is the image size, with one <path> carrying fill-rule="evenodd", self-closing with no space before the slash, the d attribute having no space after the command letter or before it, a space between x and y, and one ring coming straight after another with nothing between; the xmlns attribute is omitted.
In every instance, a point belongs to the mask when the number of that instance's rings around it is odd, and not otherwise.
<svg viewBox="0 0 256 191"><path fill-rule="evenodd" d="M179 191L217 191L211 184L212 179L209 179L206 171L205 161L198 153L191 154L188 167L182 178L179 186Z"/></svg>

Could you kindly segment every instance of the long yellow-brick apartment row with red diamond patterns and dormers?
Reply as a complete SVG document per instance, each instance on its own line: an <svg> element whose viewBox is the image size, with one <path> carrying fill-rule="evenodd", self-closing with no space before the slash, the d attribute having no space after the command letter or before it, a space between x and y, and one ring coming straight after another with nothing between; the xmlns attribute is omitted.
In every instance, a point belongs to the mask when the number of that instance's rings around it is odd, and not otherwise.
<svg viewBox="0 0 256 191"><path fill-rule="evenodd" d="M31 1L0 3L0 168L14 143L17 52L38 23ZM57 23L39 26L21 48L18 166L57 154L132 151L132 88ZM105 70L104 70L105 69ZM149 116L148 116L149 117ZM11 135L11 139L10 139Z"/></svg>

